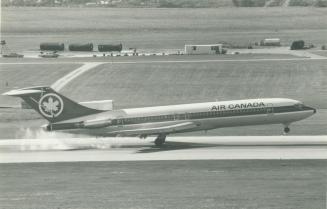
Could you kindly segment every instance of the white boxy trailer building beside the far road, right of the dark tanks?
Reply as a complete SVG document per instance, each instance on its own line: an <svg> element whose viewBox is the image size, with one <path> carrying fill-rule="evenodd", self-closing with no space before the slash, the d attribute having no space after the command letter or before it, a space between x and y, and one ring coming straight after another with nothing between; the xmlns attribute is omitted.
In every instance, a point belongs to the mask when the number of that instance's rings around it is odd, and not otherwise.
<svg viewBox="0 0 327 209"><path fill-rule="evenodd" d="M222 44L185 45L185 54L225 54Z"/></svg>

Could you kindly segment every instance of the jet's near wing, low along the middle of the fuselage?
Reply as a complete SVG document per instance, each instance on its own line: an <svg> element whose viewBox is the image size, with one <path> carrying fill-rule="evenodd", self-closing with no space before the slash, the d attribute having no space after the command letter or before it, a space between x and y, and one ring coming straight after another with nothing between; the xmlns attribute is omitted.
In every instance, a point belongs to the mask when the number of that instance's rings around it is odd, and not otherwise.
<svg viewBox="0 0 327 209"><path fill-rule="evenodd" d="M137 135L151 135L151 134L161 134L161 133L173 133L177 131L184 131L188 129L196 128L198 124L194 122L183 122L174 125L161 126L155 128L141 128L141 129L131 129L131 130L121 130L109 132L109 134L116 134L120 136L137 136Z"/></svg>

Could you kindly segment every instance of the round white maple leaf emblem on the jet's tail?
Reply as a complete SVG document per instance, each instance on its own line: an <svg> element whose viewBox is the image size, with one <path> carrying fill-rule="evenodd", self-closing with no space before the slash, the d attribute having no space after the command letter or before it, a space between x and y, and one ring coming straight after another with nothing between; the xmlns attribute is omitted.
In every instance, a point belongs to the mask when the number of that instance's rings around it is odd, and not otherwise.
<svg viewBox="0 0 327 209"><path fill-rule="evenodd" d="M45 94L39 101L39 110L45 117L58 117L63 109L64 103L56 94Z"/></svg>

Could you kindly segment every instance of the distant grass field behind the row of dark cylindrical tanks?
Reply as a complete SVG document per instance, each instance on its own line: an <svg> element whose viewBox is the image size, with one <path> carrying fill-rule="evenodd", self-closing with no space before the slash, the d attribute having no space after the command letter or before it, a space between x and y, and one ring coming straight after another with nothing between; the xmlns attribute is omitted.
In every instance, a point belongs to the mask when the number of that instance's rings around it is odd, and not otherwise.
<svg viewBox="0 0 327 209"><path fill-rule="evenodd" d="M288 45L304 39L319 46L327 37L326 9L312 7L2 8L1 18L2 39L19 51L51 41L171 49L220 41L246 46L269 37Z"/></svg>

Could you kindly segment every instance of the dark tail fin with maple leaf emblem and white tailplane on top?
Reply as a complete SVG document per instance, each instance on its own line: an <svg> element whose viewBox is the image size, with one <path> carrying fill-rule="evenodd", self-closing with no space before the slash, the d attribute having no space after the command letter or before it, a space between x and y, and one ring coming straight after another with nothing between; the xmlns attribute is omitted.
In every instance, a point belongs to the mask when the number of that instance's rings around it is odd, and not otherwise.
<svg viewBox="0 0 327 209"><path fill-rule="evenodd" d="M22 98L51 123L103 112L82 106L50 87L30 87L12 90L3 95Z"/></svg>

